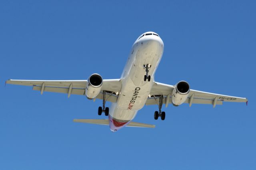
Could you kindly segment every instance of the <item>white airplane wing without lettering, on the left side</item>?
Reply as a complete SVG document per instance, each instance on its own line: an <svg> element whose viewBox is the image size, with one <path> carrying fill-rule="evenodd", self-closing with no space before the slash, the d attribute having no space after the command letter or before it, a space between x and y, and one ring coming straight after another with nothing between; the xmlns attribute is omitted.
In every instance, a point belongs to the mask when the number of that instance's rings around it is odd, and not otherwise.
<svg viewBox="0 0 256 170"><path fill-rule="evenodd" d="M87 80L7 80L6 84L32 86L33 90L67 93L68 97L71 94L85 95ZM122 83L120 79L105 79L102 83L100 94L96 97L103 99L102 91L107 91L106 101L116 102L116 92L120 92Z"/></svg>

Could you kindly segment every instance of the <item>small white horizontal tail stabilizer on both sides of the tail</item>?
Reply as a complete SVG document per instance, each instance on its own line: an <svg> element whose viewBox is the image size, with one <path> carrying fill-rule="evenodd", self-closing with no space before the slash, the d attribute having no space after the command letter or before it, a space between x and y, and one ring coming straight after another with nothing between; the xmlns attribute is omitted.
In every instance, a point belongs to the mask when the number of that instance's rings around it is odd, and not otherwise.
<svg viewBox="0 0 256 170"><path fill-rule="evenodd" d="M108 119L74 119L74 122L80 123L91 123L91 124L98 124L98 125L109 125ZM137 123L137 122L130 122L126 127L148 127L154 128L155 125L149 125L145 123Z"/></svg>

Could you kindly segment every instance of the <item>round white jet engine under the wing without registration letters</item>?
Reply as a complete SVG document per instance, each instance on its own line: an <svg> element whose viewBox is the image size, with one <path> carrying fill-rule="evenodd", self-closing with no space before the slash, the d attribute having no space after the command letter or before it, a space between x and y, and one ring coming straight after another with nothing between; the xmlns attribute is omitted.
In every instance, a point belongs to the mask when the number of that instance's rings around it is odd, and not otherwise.
<svg viewBox="0 0 256 170"><path fill-rule="evenodd" d="M89 99L96 97L100 93L102 81L102 77L99 74L90 75L85 89L86 97Z"/></svg>

